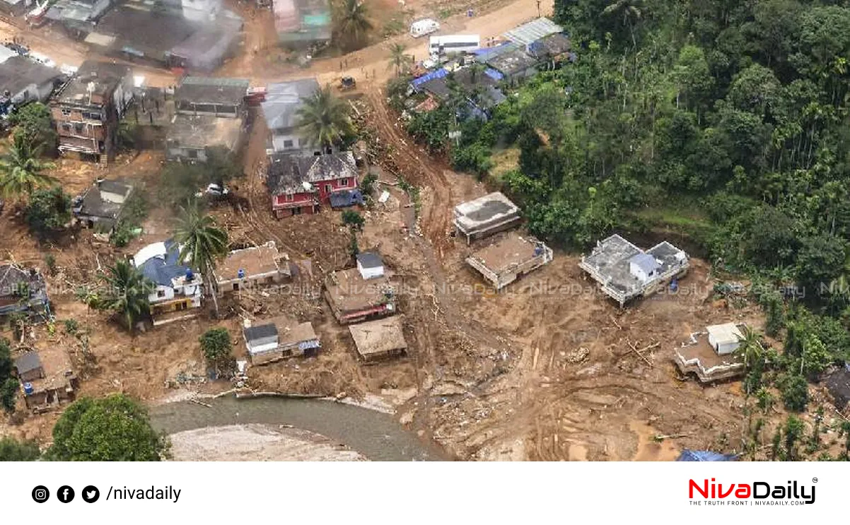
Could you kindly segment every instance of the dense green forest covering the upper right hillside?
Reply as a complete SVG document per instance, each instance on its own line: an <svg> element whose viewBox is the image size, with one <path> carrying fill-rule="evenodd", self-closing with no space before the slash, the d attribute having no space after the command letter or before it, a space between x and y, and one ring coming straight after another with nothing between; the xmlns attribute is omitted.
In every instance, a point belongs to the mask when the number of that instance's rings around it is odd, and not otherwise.
<svg viewBox="0 0 850 525"><path fill-rule="evenodd" d="M495 182L549 242L675 229L751 278L785 345L748 392L804 409L804 380L850 356L850 2L555 0L554 17L575 64L508 90L460 144L451 107L408 130L482 178L519 149Z"/></svg>

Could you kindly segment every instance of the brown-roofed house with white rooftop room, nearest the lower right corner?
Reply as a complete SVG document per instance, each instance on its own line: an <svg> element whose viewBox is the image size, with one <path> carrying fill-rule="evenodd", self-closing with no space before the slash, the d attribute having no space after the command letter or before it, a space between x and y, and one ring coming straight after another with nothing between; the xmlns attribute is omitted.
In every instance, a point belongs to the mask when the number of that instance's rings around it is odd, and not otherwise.
<svg viewBox="0 0 850 525"><path fill-rule="evenodd" d="M744 373L736 354L744 338L744 325L711 325L691 334L689 342L676 349L674 362L683 375L694 374L701 382L722 381Z"/></svg>

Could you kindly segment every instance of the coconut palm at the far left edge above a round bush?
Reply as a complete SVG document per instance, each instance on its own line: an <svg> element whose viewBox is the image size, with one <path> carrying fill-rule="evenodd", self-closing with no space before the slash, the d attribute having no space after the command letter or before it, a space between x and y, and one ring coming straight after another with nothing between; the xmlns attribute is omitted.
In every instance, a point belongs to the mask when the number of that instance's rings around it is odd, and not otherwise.
<svg viewBox="0 0 850 525"><path fill-rule="evenodd" d="M38 148L22 133L14 135L8 151L0 157L0 193L8 198L32 195L33 190L49 186L55 179L44 173L52 169L50 162L38 159Z"/></svg>

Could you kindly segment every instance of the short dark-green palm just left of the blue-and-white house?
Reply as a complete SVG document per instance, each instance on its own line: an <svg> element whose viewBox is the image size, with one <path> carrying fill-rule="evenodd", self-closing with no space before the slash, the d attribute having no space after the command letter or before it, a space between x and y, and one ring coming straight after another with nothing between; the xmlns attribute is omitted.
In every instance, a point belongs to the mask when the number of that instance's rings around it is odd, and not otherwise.
<svg viewBox="0 0 850 525"><path fill-rule="evenodd" d="M108 273L101 279L109 291L99 299L98 308L122 315L132 332L136 321L150 313L148 296L156 290L156 285L127 261L118 261L107 269Z"/></svg>

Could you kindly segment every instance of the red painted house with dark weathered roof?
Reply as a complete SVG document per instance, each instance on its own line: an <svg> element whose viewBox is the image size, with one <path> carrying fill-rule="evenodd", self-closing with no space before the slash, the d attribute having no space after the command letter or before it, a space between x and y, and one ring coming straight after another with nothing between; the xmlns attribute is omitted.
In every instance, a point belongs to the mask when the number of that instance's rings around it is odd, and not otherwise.
<svg viewBox="0 0 850 525"><path fill-rule="evenodd" d="M330 204L331 193L357 188L357 165L350 151L326 155L269 155L266 185L275 217L314 213Z"/></svg>

